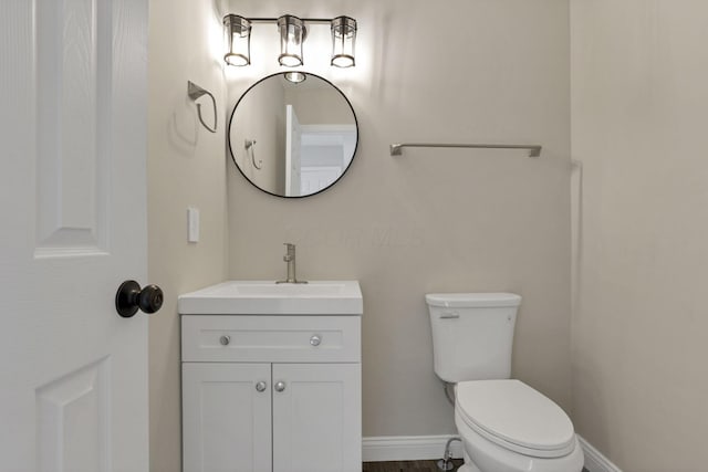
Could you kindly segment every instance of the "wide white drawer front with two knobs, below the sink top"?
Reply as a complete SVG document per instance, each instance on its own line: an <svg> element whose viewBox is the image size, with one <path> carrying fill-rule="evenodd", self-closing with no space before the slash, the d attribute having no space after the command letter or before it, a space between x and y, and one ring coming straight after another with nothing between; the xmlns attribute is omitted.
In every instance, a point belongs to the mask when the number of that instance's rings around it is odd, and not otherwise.
<svg viewBox="0 0 708 472"><path fill-rule="evenodd" d="M181 316L183 361L360 363L360 316Z"/></svg>

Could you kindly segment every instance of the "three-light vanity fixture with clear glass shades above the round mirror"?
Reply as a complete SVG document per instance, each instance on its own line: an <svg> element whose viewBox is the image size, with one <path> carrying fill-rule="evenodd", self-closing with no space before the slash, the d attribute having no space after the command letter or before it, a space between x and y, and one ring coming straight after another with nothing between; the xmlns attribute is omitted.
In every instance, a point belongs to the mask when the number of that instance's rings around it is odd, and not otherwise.
<svg viewBox="0 0 708 472"><path fill-rule="evenodd" d="M253 23L275 23L280 35L280 55L278 62L285 67L304 64L303 43L310 24L329 24L332 32L332 59L330 64L336 67L353 67L356 43L356 20L350 17L334 19L298 18L283 14L279 18L244 18L238 14L223 17L223 31L227 53L223 61L229 65L249 65L251 63L251 25ZM287 76L291 82L302 82L304 74L292 73ZM299 80L300 78L300 80Z"/></svg>

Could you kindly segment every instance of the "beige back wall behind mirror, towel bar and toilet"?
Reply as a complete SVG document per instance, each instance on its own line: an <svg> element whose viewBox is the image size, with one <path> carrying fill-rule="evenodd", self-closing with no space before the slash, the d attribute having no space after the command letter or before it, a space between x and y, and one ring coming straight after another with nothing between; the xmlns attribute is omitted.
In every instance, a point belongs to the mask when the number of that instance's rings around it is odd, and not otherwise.
<svg viewBox="0 0 708 472"><path fill-rule="evenodd" d="M298 244L299 276L361 281L364 436L455 430L433 371L424 294L434 291L520 293L513 374L568 409L568 1L233 0L227 8L247 17L346 13L360 23L354 70L327 66L326 27L322 59L305 51L306 70L337 84L356 111L360 147L347 175L315 197L287 200L229 164L228 211L231 277L282 277L289 241ZM262 38L262 28L253 34ZM253 66L227 74L231 104L278 71L277 44L256 45ZM532 141L544 150L541 159L438 149L391 157L388 145L400 140Z"/></svg>

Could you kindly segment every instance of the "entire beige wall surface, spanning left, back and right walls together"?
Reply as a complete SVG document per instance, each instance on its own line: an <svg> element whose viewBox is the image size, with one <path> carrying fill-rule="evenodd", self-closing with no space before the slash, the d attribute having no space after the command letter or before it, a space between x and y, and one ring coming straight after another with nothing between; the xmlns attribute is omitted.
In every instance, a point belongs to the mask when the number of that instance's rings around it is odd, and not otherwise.
<svg viewBox="0 0 708 472"><path fill-rule="evenodd" d="M571 42L566 0L220 3L215 12L188 0L150 2L148 263L149 282L167 294L150 318L153 472L179 470L176 295L227 276L281 277L284 241L299 245L301 276L362 283L365 436L454 430L423 295L508 290L524 297L514 375L572 406L591 443L627 472L708 463L708 321L699 305L708 6L571 0ZM355 70L306 59L308 71L347 94L360 120L357 157L335 188L303 200L267 196L223 157L230 109L220 111L217 135L198 124L187 80L232 106L257 77L278 72L269 50L277 43L263 34L254 64L227 71L227 99L226 11L360 20ZM313 29L309 43L319 35L326 44L327 33ZM583 165L571 192L572 375L569 67L572 156ZM538 141L544 151L539 160L434 149L389 157L399 140ZM186 242L187 206L201 210L198 244Z"/></svg>

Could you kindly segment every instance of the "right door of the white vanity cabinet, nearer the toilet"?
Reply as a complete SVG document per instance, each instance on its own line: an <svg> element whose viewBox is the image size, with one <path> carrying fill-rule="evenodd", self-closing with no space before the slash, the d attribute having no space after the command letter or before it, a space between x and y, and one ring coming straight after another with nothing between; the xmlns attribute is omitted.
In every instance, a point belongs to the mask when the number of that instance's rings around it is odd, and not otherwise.
<svg viewBox="0 0 708 472"><path fill-rule="evenodd" d="M361 377L361 364L273 364L273 472L362 471Z"/></svg>

